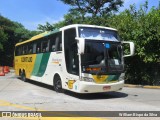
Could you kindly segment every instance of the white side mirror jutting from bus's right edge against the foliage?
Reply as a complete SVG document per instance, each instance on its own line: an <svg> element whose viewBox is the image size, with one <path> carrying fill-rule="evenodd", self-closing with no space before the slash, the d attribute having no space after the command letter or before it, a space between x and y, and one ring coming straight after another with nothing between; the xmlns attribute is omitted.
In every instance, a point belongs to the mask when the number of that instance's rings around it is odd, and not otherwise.
<svg viewBox="0 0 160 120"><path fill-rule="evenodd" d="M135 52L135 45L134 45L134 43L133 42L129 42L129 41L123 41L122 43L123 44L129 44L129 47L130 47L130 54L124 55L123 57L133 56L134 52Z"/></svg>

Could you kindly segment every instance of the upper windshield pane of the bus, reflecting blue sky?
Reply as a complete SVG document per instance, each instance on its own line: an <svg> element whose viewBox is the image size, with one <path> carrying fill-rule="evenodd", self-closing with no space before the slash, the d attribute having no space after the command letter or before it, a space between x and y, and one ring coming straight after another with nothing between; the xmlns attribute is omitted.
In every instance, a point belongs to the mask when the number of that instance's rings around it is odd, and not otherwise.
<svg viewBox="0 0 160 120"><path fill-rule="evenodd" d="M80 27L79 36L92 40L119 41L117 31L102 28Z"/></svg>

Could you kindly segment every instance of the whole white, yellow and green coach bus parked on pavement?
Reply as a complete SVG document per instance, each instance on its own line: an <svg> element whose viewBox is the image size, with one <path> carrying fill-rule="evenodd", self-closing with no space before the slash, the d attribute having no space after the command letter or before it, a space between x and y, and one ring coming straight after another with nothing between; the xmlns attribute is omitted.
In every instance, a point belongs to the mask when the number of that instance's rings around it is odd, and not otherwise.
<svg viewBox="0 0 160 120"><path fill-rule="evenodd" d="M122 44L130 46L123 54ZM117 91L124 85L124 57L134 43L109 27L73 24L15 45L15 74L77 93Z"/></svg>

